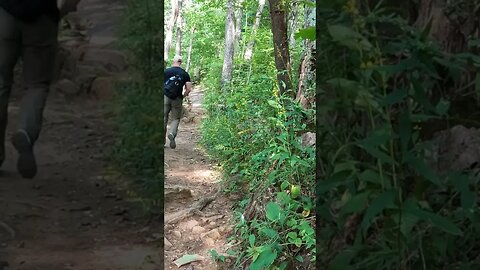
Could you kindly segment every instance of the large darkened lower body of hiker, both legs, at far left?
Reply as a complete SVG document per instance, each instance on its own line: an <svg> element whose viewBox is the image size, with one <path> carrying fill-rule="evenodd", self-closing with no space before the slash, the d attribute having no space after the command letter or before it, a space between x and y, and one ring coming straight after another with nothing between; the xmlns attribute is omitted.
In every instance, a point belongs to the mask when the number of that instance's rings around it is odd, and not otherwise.
<svg viewBox="0 0 480 270"><path fill-rule="evenodd" d="M60 18L76 10L80 0L0 0L0 165L5 160L5 132L14 67L23 60L25 96L12 143L19 153L17 169L33 178L38 139L48 89L53 79Z"/></svg>

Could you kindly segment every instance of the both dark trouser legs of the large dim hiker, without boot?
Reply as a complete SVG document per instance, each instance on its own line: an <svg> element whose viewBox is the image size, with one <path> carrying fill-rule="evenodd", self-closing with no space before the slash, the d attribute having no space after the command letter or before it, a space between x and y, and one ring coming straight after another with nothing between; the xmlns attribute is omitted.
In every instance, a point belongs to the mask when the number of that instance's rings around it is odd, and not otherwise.
<svg viewBox="0 0 480 270"><path fill-rule="evenodd" d="M20 57L23 60L26 93L20 105L19 128L27 132L32 144L38 139L43 109L53 79L57 36L58 23L50 17L43 16L35 22L25 23L0 8L1 150L4 148L14 67Z"/></svg>

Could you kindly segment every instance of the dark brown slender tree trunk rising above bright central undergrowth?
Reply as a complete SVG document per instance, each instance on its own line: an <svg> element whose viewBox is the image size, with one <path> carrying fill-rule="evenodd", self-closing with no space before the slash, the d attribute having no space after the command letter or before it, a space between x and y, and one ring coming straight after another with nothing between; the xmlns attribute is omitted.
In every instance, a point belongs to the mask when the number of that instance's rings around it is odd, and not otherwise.
<svg viewBox="0 0 480 270"><path fill-rule="evenodd" d="M269 0L272 19L273 48L275 67L277 68L278 88L280 94L295 98L290 79L291 64L287 36L287 12L282 0Z"/></svg>

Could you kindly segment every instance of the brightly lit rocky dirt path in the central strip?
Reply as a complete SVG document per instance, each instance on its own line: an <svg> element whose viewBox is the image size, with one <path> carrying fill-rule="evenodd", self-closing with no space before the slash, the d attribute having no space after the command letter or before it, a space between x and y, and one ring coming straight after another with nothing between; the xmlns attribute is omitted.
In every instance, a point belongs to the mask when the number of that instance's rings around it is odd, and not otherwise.
<svg viewBox="0 0 480 270"><path fill-rule="evenodd" d="M198 145L203 91L195 87L184 106L175 149L165 148L165 269L220 269L210 250L227 248L232 231L232 198L220 190L221 175ZM186 102L184 102L186 103ZM184 255L202 259L180 268Z"/></svg>

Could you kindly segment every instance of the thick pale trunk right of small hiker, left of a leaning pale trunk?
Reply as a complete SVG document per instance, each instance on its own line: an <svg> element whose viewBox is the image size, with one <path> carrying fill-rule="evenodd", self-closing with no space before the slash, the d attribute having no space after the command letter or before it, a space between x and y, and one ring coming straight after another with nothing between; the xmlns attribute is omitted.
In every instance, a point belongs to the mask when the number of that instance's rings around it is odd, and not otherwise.
<svg viewBox="0 0 480 270"><path fill-rule="evenodd" d="M225 49L223 53L222 87L232 80L235 53L235 0L227 0L225 21Z"/></svg>

